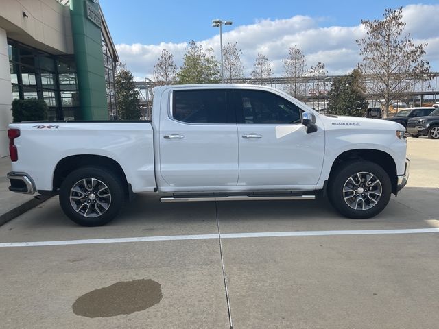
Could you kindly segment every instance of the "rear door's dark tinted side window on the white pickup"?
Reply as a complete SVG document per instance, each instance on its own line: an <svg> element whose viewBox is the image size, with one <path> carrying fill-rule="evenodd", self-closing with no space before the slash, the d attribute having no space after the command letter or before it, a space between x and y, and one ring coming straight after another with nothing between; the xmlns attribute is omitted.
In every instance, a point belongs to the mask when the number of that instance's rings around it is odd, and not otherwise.
<svg viewBox="0 0 439 329"><path fill-rule="evenodd" d="M230 123L227 90L175 90L172 117L187 123Z"/></svg>

